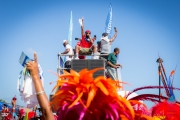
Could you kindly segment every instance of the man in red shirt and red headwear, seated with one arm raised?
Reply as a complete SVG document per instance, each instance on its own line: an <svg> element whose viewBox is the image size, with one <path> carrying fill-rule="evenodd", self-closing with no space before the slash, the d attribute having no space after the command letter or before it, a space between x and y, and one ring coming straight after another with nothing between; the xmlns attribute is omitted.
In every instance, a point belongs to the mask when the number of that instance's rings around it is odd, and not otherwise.
<svg viewBox="0 0 180 120"><path fill-rule="evenodd" d="M76 55L75 59L79 59L78 56L80 55L91 55L94 52L95 47L93 45L95 38L91 38L91 31L86 30L84 32L84 18L80 19L81 25L81 36L82 39L76 45Z"/></svg>

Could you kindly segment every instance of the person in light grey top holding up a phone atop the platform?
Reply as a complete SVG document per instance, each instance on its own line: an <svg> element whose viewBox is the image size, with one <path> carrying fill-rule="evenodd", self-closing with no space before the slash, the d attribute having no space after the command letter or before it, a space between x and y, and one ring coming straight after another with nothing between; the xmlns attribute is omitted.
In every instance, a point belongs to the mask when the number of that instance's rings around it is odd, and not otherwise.
<svg viewBox="0 0 180 120"><path fill-rule="evenodd" d="M115 34L112 38L108 38L108 33L103 33L101 37L101 54L109 54L111 53L111 45L112 42L116 39L118 30L114 28ZM103 58L107 59L107 56L102 56Z"/></svg>

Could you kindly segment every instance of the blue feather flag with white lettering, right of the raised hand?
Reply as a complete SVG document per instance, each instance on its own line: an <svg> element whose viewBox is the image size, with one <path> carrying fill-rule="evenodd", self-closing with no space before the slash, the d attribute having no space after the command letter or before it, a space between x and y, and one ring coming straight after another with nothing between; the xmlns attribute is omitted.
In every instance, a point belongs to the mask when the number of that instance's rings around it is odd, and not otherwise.
<svg viewBox="0 0 180 120"><path fill-rule="evenodd" d="M108 37L111 38L111 32L112 32L112 6L111 4L109 6L109 12L106 18L105 32L108 33Z"/></svg>

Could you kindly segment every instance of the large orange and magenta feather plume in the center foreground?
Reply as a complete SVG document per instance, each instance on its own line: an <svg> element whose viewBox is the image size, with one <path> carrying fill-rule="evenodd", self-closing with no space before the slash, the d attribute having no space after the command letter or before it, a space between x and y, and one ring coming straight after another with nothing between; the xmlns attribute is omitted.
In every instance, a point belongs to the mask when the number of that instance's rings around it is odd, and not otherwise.
<svg viewBox="0 0 180 120"><path fill-rule="evenodd" d="M58 110L58 120L134 120L146 118L146 115L134 112L138 101L117 94L120 82L106 79L104 76L93 78L93 73L101 68L59 76L57 85L61 87L52 97L51 106ZM141 112L142 113L142 112ZM146 118L148 119L148 118Z"/></svg>

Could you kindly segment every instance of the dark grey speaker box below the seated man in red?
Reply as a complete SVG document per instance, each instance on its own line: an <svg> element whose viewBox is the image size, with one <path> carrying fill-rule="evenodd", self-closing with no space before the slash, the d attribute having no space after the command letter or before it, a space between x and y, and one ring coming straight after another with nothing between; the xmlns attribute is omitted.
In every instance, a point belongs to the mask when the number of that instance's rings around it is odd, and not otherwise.
<svg viewBox="0 0 180 120"><path fill-rule="evenodd" d="M105 62L104 60L72 60L71 61L71 69L75 70L76 72L81 71L82 69L87 68L88 70L92 70L95 68L104 68L105 69ZM104 76L104 69L99 70L94 73L93 77L96 78L98 76Z"/></svg>

